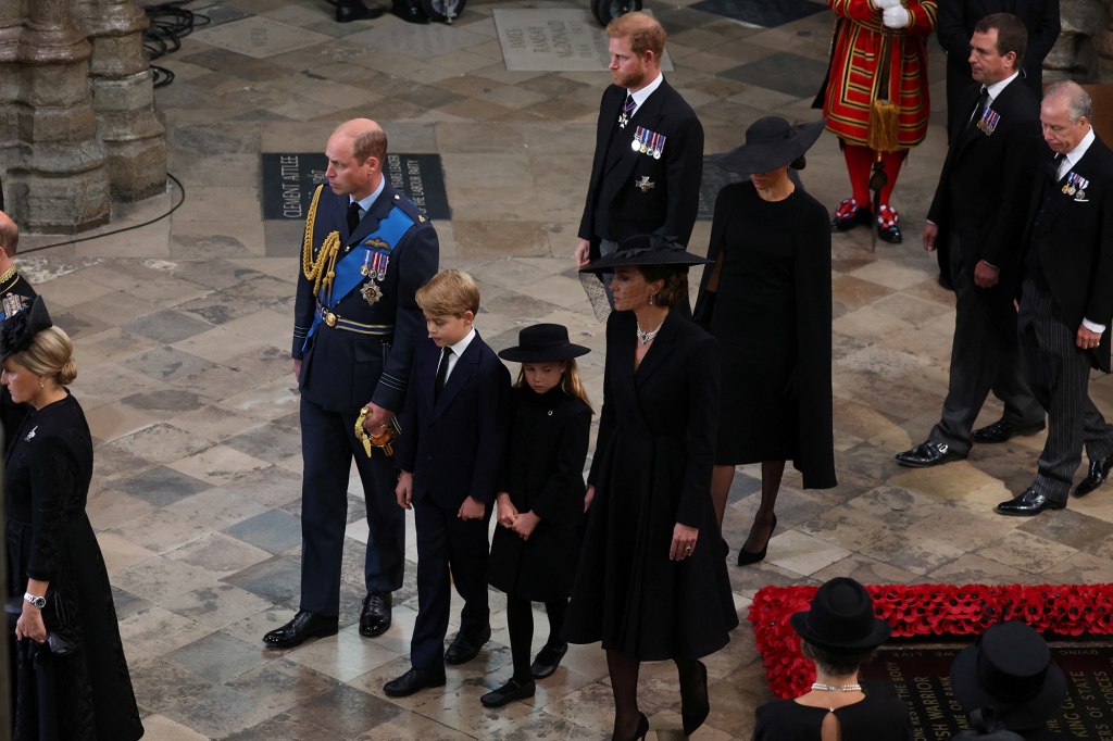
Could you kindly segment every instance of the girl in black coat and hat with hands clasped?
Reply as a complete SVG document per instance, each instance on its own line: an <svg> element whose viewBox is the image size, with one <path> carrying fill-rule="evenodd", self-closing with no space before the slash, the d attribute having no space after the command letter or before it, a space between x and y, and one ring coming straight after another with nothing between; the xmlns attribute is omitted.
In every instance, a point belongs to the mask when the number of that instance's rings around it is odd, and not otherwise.
<svg viewBox="0 0 1113 741"><path fill-rule="evenodd" d="M506 593L514 675L480 698L487 708L533 696L534 680L556 671L568 651L561 630L580 546L591 428L591 406L574 358L589 352L570 344L561 325L538 324L522 329L518 347L499 353L522 364L499 483L502 527L491 543L487 577ZM549 641L531 665L532 602L545 604Z"/></svg>

